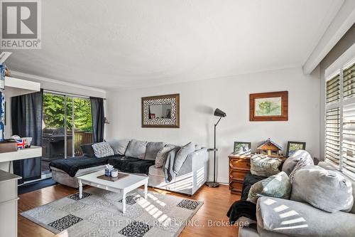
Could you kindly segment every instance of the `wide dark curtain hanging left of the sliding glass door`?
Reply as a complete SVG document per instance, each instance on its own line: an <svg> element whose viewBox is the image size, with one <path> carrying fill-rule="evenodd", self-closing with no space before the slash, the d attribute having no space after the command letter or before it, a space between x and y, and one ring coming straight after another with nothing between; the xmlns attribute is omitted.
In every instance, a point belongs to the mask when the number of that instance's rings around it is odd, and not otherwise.
<svg viewBox="0 0 355 237"><path fill-rule="evenodd" d="M42 146L42 110L43 90L38 93L18 95L11 98L12 134L20 137L32 137L31 144ZM13 173L23 181L40 179L41 157L13 161Z"/></svg>

